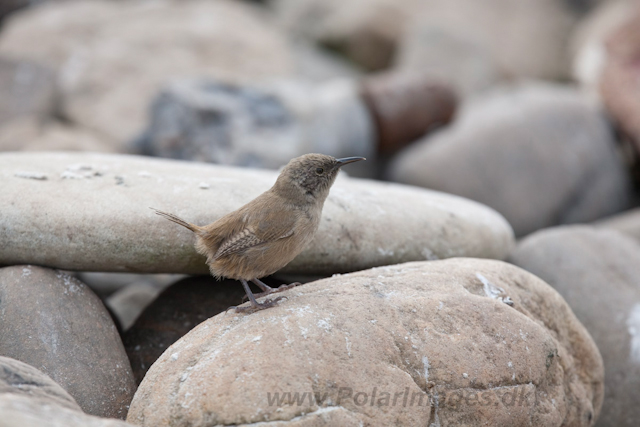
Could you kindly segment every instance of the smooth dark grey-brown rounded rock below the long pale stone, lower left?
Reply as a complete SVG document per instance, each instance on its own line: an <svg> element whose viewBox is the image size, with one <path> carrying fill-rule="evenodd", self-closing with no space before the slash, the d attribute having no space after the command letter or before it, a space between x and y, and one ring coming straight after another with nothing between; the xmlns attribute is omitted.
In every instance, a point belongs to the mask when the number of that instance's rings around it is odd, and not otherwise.
<svg viewBox="0 0 640 427"><path fill-rule="evenodd" d="M89 414L126 415L131 367L109 313L82 282L41 267L0 269L0 324L0 354L40 369Z"/></svg>

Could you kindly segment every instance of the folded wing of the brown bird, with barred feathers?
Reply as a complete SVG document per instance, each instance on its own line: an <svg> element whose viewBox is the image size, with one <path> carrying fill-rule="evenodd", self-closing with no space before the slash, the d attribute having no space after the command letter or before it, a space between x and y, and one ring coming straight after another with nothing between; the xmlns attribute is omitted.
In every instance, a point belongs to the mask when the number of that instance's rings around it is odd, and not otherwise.
<svg viewBox="0 0 640 427"><path fill-rule="evenodd" d="M290 237L296 216L283 207L252 210L244 219L244 227L228 236L218 247L215 258L235 254L249 248Z"/></svg>

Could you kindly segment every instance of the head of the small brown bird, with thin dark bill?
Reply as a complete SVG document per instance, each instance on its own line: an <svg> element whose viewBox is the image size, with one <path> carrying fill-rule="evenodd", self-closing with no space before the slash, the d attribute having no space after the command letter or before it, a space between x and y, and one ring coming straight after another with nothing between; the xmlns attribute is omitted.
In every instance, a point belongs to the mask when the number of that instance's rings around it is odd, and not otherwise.
<svg viewBox="0 0 640 427"><path fill-rule="evenodd" d="M365 160L364 157L336 159L325 154L305 154L292 159L280 172L274 190L288 198L301 201L323 201L338 176L340 168L346 164Z"/></svg>

